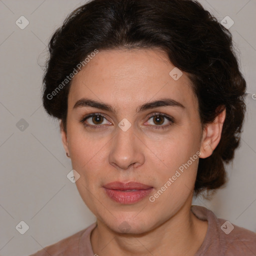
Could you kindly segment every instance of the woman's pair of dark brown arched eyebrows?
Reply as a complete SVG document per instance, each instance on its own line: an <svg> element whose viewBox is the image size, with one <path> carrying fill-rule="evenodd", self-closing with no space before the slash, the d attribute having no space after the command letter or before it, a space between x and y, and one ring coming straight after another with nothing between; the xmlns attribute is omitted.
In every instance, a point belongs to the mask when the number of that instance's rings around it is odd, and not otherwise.
<svg viewBox="0 0 256 256"><path fill-rule="evenodd" d="M116 113L116 111L113 109L113 107L111 105L102 103L102 102L99 102L99 101L96 101L93 99L88 99L88 98L81 98L81 99L77 100L73 106L73 109L78 108L78 107L88 107L88 106ZM175 106L175 107L185 108L180 102L178 102L174 99L162 98L162 99L158 99L155 101L146 102L146 103L140 105L136 109L136 112L141 112L146 109L156 108L159 106Z"/></svg>

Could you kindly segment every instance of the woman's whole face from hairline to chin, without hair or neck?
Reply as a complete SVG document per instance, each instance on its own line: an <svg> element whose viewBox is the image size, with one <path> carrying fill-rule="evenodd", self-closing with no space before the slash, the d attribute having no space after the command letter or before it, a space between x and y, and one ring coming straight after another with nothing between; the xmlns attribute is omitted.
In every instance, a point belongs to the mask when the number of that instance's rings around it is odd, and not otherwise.
<svg viewBox="0 0 256 256"><path fill-rule="evenodd" d="M82 199L114 231L145 232L190 207L202 129L173 68L156 49L99 50L72 80L64 147Z"/></svg>

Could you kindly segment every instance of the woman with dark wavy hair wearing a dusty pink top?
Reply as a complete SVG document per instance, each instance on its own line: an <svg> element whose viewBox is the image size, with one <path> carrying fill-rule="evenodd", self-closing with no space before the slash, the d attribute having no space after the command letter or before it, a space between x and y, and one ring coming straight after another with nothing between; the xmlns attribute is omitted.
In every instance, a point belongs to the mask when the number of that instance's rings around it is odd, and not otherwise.
<svg viewBox="0 0 256 256"><path fill-rule="evenodd" d="M192 0L92 0L49 52L43 105L97 220L33 255L256 255L256 234L191 206L239 145L246 83L227 29Z"/></svg>

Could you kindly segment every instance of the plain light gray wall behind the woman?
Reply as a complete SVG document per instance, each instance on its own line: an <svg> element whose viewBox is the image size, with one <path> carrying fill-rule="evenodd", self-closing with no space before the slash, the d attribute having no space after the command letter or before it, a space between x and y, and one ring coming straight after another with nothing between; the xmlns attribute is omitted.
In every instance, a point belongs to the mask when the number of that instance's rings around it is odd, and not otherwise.
<svg viewBox="0 0 256 256"><path fill-rule="evenodd" d="M28 255L95 221L66 177L72 167L58 122L47 116L40 98L50 35L85 2L0 0L0 255ZM229 30L247 81L248 110L228 184L212 200L199 197L193 204L256 232L256 0L200 2L218 20L228 15L234 21ZM20 16L29 21L24 29L15 23ZM27 127L20 126L22 118ZM15 228L21 220L29 226L23 235Z"/></svg>

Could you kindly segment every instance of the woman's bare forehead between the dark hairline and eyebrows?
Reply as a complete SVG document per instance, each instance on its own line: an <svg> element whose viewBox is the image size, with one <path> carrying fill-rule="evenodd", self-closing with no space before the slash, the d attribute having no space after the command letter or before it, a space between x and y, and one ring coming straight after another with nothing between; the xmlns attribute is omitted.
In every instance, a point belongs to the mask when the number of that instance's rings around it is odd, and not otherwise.
<svg viewBox="0 0 256 256"><path fill-rule="evenodd" d="M89 97L116 107L135 107L171 97L196 107L191 82L185 72L180 75L167 54L158 49L99 50L73 77L68 104L72 107L81 97Z"/></svg>

